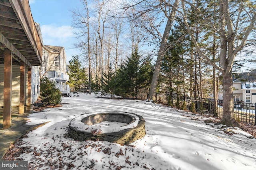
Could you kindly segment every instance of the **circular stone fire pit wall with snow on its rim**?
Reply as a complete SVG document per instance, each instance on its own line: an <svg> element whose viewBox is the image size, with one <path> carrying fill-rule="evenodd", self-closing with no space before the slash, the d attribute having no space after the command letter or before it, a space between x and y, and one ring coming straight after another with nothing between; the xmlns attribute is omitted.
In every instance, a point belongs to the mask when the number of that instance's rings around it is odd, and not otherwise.
<svg viewBox="0 0 256 170"><path fill-rule="evenodd" d="M119 127L96 127L102 121L126 123ZM128 145L146 135L142 116L126 112L88 113L72 119L69 135L77 141L108 141Z"/></svg>

